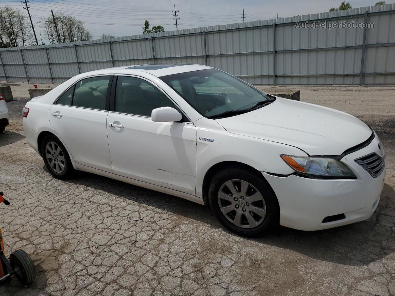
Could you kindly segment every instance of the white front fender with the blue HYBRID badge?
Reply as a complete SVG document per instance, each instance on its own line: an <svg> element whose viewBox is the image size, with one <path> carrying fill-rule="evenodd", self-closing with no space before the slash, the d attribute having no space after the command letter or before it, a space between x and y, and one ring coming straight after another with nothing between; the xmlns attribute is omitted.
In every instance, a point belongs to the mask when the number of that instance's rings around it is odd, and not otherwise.
<svg viewBox="0 0 395 296"><path fill-rule="evenodd" d="M197 129L196 196L202 197L203 179L207 171L223 161L237 161L258 171L288 175L294 171L280 154L307 156L299 148L226 131L215 120L201 118Z"/></svg>

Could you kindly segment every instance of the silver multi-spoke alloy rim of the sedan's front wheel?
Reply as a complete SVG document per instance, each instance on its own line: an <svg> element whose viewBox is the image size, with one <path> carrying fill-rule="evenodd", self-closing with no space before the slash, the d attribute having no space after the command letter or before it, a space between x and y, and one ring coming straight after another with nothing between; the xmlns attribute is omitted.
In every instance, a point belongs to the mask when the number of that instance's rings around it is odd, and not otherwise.
<svg viewBox="0 0 395 296"><path fill-rule="evenodd" d="M263 222L266 204L261 193L243 180L229 180L218 191L218 204L222 214L234 225L254 228Z"/></svg>

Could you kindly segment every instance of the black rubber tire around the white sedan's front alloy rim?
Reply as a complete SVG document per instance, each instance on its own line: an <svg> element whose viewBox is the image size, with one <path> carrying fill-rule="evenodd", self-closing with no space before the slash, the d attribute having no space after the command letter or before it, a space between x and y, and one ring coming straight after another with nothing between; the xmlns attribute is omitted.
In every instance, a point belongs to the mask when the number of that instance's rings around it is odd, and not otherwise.
<svg viewBox="0 0 395 296"><path fill-rule="evenodd" d="M220 205L218 203L218 194L222 185L229 180L242 180L248 182L250 185L255 187L263 197L266 214L263 218L260 218L263 220L260 221L258 226L252 228L242 228L236 226L231 221L229 221L225 214L221 212ZM251 188L252 187L250 186L249 189ZM270 185L267 184L267 182L263 179L263 176L259 176L258 173L251 172L247 169L244 169L243 167L229 167L227 169L220 170L214 175L209 187L209 203L211 210L218 221L220 221L220 223L226 229L241 236L261 237L273 232L279 225L280 209L278 206L278 200ZM246 220L246 211L244 211L242 215L244 215L244 219Z"/></svg>

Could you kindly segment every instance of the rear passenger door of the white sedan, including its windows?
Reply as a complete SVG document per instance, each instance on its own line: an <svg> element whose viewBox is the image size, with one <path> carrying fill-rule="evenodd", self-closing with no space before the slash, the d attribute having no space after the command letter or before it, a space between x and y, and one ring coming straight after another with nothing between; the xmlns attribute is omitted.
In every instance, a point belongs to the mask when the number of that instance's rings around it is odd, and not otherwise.
<svg viewBox="0 0 395 296"><path fill-rule="evenodd" d="M81 164L112 172L107 140L107 114L113 75L80 80L49 109L49 121Z"/></svg>

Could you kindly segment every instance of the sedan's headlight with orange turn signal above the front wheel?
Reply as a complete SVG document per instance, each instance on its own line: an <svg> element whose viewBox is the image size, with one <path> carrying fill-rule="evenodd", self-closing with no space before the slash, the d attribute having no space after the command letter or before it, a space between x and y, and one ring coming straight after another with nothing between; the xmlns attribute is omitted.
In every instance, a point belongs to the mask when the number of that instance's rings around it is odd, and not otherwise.
<svg viewBox="0 0 395 296"><path fill-rule="evenodd" d="M304 175L331 179L355 178L347 165L331 156L280 156L292 169Z"/></svg>

